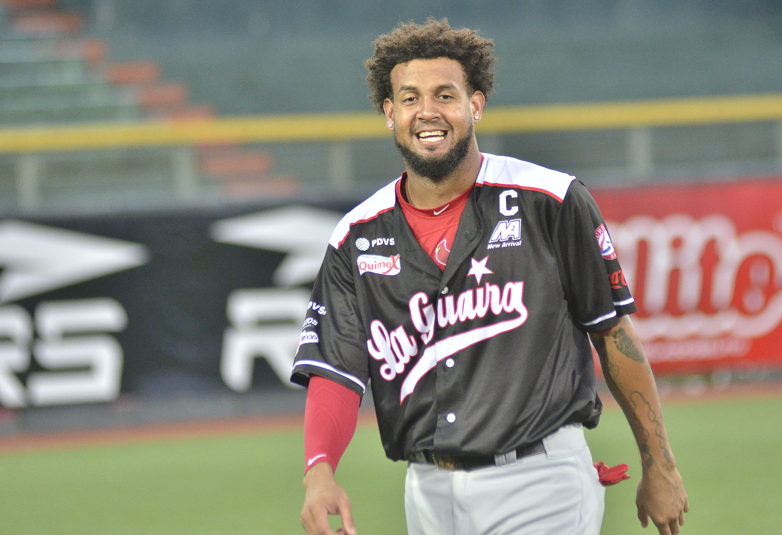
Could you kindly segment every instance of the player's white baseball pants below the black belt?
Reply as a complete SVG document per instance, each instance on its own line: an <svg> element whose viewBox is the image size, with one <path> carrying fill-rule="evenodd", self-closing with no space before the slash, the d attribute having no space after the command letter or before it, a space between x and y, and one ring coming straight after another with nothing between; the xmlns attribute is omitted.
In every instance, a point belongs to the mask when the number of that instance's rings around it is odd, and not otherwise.
<svg viewBox="0 0 782 535"><path fill-rule="evenodd" d="M411 462L408 535L598 535L605 489L580 424L543 439L545 453L470 471Z"/></svg>

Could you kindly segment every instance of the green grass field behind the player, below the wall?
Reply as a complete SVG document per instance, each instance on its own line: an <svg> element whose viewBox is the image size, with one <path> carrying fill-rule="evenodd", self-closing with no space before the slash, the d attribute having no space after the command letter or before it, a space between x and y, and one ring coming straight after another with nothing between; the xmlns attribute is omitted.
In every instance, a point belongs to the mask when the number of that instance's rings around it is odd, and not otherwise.
<svg viewBox="0 0 782 535"><path fill-rule="evenodd" d="M691 512L683 534L782 533L782 400L673 404L665 410ZM640 468L617 409L587 433L594 458L627 462L607 490L604 535L642 530ZM337 476L359 533L404 534L404 463L358 429ZM302 433L168 440L0 455L0 533L303 533Z"/></svg>

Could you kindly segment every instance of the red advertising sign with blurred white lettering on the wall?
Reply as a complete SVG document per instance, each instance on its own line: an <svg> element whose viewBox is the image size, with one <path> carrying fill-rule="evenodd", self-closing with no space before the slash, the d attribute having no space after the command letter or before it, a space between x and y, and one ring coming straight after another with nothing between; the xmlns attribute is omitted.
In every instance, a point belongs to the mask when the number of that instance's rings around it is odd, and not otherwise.
<svg viewBox="0 0 782 535"><path fill-rule="evenodd" d="M782 367L782 180L594 197L655 372Z"/></svg>

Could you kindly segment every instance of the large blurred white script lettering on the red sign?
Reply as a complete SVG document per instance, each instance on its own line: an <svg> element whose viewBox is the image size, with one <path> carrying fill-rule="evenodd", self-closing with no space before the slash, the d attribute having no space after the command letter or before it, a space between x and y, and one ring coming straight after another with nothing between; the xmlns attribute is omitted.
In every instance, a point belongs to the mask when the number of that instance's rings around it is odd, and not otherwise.
<svg viewBox="0 0 782 535"><path fill-rule="evenodd" d="M715 338L734 336L752 339L765 336L782 321L782 238L775 232L753 230L737 235L730 218L714 214L696 221L685 214L673 214L658 221L652 217L632 217L623 224L609 224L614 246L622 257L622 271L630 289L643 288L644 310L649 318L635 318L639 336L644 341L665 338L685 339L691 336ZM640 244L647 244L646 265L639 266ZM711 273L711 288L705 288L701 259L710 242L717 257ZM777 289L769 296L753 287L744 290L744 303L750 303L753 314L731 305L737 289L741 264L751 257L765 257L775 275ZM762 266L760 266L762 267ZM643 269L644 280L637 274ZM681 315L665 311L673 271L679 273L676 307ZM754 268L753 284L768 285L768 269ZM705 294L705 295L704 295ZM698 310L703 298L715 312ZM764 303L765 301L765 303ZM651 358L651 357L650 357Z"/></svg>

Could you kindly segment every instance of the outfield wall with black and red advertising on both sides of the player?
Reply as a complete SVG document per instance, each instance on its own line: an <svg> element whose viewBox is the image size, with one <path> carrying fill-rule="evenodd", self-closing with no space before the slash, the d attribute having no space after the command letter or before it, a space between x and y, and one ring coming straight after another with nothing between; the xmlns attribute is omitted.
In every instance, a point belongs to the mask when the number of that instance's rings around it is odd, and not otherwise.
<svg viewBox="0 0 782 535"><path fill-rule="evenodd" d="M595 197L623 267L609 276L633 290L655 372L782 367L782 181ZM309 287L349 209L0 221L0 404L285 392Z"/></svg>

